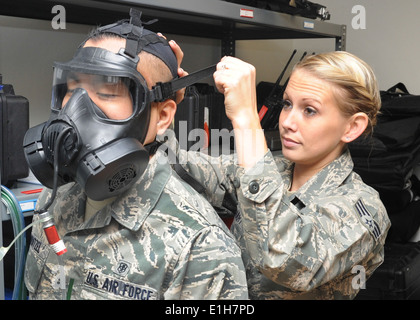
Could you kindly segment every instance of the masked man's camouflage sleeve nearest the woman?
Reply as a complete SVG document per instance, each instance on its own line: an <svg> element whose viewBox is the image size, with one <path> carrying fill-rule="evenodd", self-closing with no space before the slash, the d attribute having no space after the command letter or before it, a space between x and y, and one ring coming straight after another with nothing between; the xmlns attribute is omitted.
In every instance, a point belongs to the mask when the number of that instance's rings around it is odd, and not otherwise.
<svg viewBox="0 0 420 320"><path fill-rule="evenodd" d="M234 240L207 227L183 249L165 299L248 299L245 268Z"/></svg>

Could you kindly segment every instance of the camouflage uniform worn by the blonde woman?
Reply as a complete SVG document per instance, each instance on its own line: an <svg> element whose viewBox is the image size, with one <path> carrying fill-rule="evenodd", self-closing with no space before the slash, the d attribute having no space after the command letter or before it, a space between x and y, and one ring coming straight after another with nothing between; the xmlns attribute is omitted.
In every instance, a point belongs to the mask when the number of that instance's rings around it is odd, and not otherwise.
<svg viewBox="0 0 420 320"><path fill-rule="evenodd" d="M235 156L178 152L214 206L225 193L237 197L231 230L251 299L352 299L359 272L368 279L383 262L390 221L378 193L352 171L348 150L293 193L293 164L270 151L246 172Z"/></svg>

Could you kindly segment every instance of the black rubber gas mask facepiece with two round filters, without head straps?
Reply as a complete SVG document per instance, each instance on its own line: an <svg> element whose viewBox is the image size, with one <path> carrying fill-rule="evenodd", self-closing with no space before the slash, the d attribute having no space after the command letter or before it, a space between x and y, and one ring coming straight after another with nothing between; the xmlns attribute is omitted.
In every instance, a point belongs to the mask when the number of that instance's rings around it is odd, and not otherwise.
<svg viewBox="0 0 420 320"><path fill-rule="evenodd" d="M55 65L50 119L29 129L24 139L27 161L42 184L53 187L55 154L59 163L58 185L76 181L93 200L126 191L142 175L149 160L143 143L149 126L150 101L146 82L136 65L136 60L121 53L99 48L82 48L69 63ZM87 90L70 88L69 83L86 74L108 85L125 79L132 101L131 115L123 120L109 119ZM96 91L100 90L95 88L93 92ZM57 152L55 142L64 131Z"/></svg>

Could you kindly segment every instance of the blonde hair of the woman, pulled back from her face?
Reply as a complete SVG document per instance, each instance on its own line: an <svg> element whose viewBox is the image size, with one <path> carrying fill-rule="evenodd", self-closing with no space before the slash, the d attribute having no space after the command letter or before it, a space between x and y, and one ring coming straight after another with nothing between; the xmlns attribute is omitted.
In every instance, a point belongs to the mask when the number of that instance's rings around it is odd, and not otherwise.
<svg viewBox="0 0 420 320"><path fill-rule="evenodd" d="M363 112L369 118L365 135L373 132L381 108L381 96L372 68L345 51L308 56L294 70L304 70L333 85L338 107L345 116Z"/></svg>

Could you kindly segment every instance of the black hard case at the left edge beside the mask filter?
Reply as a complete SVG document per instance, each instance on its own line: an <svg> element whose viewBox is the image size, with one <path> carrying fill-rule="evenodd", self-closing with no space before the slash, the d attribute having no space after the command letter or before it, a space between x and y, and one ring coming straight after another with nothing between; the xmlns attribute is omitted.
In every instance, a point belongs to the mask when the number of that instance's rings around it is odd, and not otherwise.
<svg viewBox="0 0 420 320"><path fill-rule="evenodd" d="M0 161L1 184L11 187L25 178L29 168L23 153L23 137L29 128L29 102L15 95L11 84L2 84L0 74Z"/></svg>

